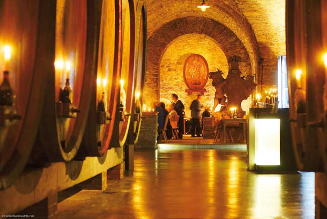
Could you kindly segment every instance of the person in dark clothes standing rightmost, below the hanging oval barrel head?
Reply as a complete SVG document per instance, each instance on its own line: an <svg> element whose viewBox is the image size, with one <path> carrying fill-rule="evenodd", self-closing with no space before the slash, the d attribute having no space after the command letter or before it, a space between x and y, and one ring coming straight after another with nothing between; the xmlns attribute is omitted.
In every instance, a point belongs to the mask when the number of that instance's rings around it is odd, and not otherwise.
<svg viewBox="0 0 327 219"><path fill-rule="evenodd" d="M191 110L191 122L192 122L192 128L191 128L191 134L192 137L195 137L195 133L197 137L201 137L200 131L200 119L201 119L201 109L202 105L200 103L202 98L202 95L199 94L196 100L193 100L190 106Z"/></svg>

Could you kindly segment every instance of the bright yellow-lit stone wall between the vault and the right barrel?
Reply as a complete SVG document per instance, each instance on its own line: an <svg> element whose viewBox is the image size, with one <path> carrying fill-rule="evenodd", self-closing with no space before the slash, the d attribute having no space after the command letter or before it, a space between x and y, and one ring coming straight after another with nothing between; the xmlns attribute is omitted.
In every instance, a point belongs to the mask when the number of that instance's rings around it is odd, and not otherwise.
<svg viewBox="0 0 327 219"><path fill-rule="evenodd" d="M286 55L285 0L235 0L256 34L264 58L264 89L277 86L277 60Z"/></svg>

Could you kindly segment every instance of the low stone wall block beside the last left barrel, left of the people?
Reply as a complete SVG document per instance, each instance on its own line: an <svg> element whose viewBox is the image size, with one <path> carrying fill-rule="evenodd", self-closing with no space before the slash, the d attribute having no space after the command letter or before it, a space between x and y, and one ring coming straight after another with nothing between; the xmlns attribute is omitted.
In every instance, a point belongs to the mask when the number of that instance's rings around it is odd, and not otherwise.
<svg viewBox="0 0 327 219"><path fill-rule="evenodd" d="M143 112L140 135L138 137L136 149L156 149L156 138L158 129L158 117L155 112Z"/></svg>

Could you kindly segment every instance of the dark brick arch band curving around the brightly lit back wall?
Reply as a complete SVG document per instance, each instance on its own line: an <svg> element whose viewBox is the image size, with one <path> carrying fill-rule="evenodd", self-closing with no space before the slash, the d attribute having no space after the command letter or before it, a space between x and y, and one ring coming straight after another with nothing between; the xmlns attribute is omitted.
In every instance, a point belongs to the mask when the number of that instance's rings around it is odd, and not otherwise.
<svg viewBox="0 0 327 219"><path fill-rule="evenodd" d="M159 100L159 64L167 46L177 37L198 33L214 39L225 53L225 56L238 55L242 58L240 69L243 74L253 74L249 54L236 35L219 22L203 17L185 17L162 25L149 38L147 44L146 84L143 95L148 98L145 104L151 105Z"/></svg>

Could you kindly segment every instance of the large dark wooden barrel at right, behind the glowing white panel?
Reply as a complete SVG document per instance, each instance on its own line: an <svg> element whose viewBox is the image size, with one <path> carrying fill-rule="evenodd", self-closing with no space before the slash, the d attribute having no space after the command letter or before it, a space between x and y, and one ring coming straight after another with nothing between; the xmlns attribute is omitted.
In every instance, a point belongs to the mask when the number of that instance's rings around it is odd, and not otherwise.
<svg viewBox="0 0 327 219"><path fill-rule="evenodd" d="M319 0L286 1L287 70L293 149L298 169L315 172L323 171L319 144L324 144L325 147L326 135L321 123L325 69L320 4Z"/></svg>

